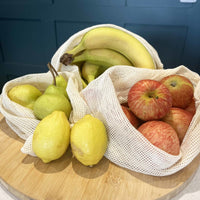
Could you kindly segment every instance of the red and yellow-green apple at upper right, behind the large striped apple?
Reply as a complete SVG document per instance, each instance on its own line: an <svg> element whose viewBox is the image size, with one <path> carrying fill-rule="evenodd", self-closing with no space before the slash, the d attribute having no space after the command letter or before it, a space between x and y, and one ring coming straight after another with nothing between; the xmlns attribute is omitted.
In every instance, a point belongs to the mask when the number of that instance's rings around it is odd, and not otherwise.
<svg viewBox="0 0 200 200"><path fill-rule="evenodd" d="M172 106L186 108L193 99L194 87L191 81L181 75L169 75L161 81L171 92Z"/></svg>

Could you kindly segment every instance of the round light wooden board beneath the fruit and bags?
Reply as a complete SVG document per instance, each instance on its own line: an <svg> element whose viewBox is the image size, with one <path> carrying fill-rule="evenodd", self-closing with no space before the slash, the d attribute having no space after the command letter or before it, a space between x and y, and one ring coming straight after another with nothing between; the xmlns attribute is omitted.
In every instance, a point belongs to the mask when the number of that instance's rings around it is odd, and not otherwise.
<svg viewBox="0 0 200 200"><path fill-rule="evenodd" d="M154 200L170 199L181 191L200 163L166 177L121 168L103 158L93 168L66 154L49 164L21 152L23 140L0 114L0 182L19 199L29 200Z"/></svg>

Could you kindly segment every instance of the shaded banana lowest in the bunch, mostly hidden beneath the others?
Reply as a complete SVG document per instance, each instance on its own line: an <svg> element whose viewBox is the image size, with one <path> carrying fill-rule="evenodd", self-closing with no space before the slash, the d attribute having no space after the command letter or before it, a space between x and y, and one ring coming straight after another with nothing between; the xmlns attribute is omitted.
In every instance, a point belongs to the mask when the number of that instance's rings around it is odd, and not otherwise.
<svg viewBox="0 0 200 200"><path fill-rule="evenodd" d="M106 69L107 67L85 62L82 66L82 77L88 83L90 83L95 78L97 78L100 74L102 74Z"/></svg>

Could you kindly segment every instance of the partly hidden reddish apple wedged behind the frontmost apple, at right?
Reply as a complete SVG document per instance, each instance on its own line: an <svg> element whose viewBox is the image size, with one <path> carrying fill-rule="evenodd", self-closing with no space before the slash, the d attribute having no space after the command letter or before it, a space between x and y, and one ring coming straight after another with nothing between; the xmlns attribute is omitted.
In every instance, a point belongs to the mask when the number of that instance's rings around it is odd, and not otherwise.
<svg viewBox="0 0 200 200"><path fill-rule="evenodd" d="M180 143L182 143L192 118L192 113L182 108L172 107L169 113L162 120L174 128L179 137Z"/></svg>

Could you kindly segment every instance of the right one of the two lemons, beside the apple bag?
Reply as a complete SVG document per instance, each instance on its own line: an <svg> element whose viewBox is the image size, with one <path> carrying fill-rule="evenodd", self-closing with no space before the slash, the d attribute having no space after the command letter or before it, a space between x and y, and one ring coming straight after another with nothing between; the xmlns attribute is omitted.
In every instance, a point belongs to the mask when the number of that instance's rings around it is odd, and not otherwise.
<svg viewBox="0 0 200 200"><path fill-rule="evenodd" d="M97 164L107 149L106 128L99 119L85 115L71 129L72 153L83 165Z"/></svg>

